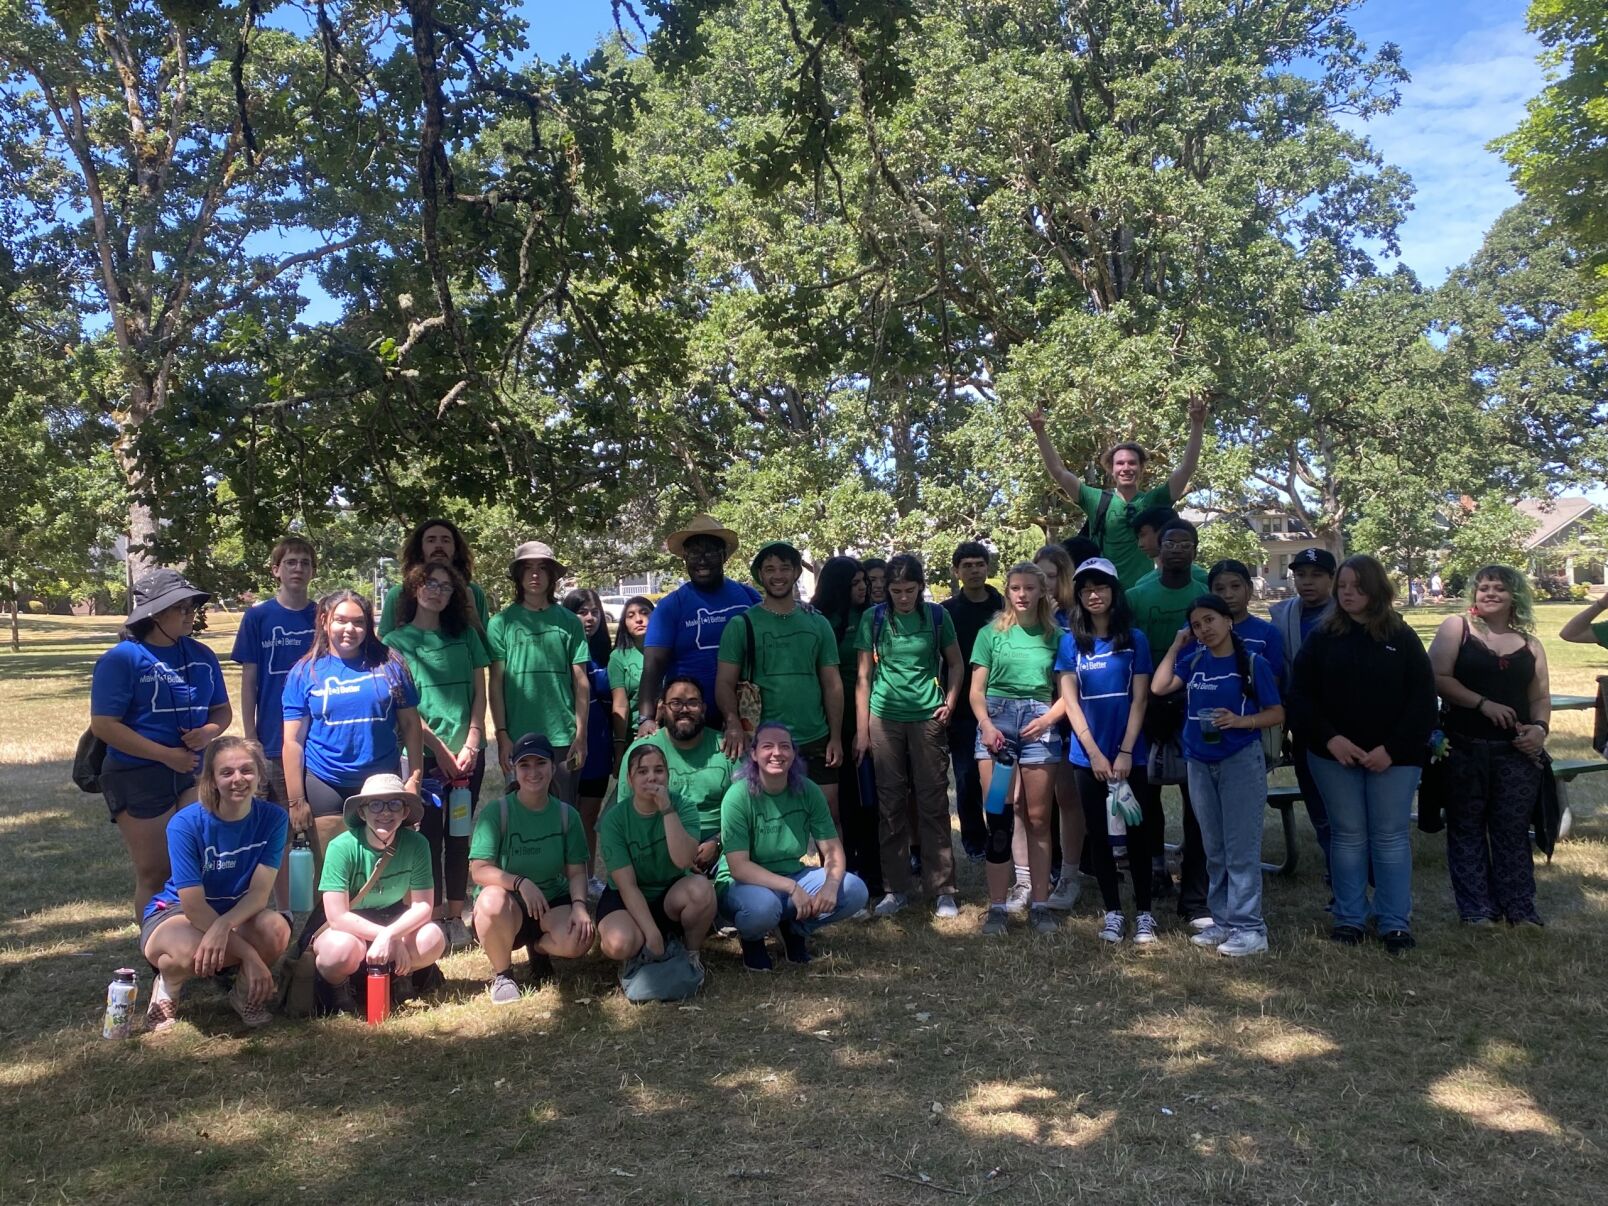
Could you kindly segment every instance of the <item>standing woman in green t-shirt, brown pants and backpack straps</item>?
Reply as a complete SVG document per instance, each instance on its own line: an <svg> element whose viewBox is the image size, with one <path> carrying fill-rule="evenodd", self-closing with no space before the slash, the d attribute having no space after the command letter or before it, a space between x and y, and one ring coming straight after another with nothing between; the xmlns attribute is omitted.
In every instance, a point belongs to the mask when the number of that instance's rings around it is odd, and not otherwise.
<svg viewBox="0 0 1608 1206"><path fill-rule="evenodd" d="M949 828L949 714L960 703L960 643L955 624L936 603L921 600L921 561L899 553L888 563L888 601L860 616L854 646L854 759L876 767L881 818L881 870L889 888L876 917L892 917L910 904L915 876L905 852L920 836L921 880L933 912L958 917L955 852ZM920 833L912 835L905 802L915 793Z"/></svg>

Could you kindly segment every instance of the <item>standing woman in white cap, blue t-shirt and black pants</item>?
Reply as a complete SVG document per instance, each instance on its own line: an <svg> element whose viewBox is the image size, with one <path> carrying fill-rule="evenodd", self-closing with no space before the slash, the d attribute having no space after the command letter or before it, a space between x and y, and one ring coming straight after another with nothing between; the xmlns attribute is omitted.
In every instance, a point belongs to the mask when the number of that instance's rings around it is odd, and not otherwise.
<svg viewBox="0 0 1608 1206"><path fill-rule="evenodd" d="M1089 860L1100 884L1105 920L1100 941L1121 942L1127 933L1122 915L1121 880L1108 836L1110 791L1127 783L1135 796L1145 788L1145 704L1155 666L1150 642L1134 627L1116 566L1103 556L1077 566L1073 576L1076 598L1055 654L1061 703L1071 720L1073 740L1066 761L1073 767L1077 798L1089 833ZM1150 855L1155 838L1140 818L1126 827L1129 865L1140 873L1134 883L1134 942L1156 941L1156 918L1150 912ZM1064 875L1064 872L1063 872Z"/></svg>

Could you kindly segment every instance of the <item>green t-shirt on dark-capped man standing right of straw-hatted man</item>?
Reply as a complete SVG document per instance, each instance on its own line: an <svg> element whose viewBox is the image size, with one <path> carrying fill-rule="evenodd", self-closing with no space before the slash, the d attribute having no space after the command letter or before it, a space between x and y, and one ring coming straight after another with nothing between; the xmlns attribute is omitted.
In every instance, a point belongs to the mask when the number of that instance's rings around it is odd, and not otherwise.
<svg viewBox="0 0 1608 1206"><path fill-rule="evenodd" d="M754 626L754 677L764 703L764 722L793 730L798 745L827 736L827 704L820 693L820 669L836 669L838 638L827 617L804 608L785 616L754 605L733 616L720 632L720 661L741 666L748 656L748 624Z"/></svg>

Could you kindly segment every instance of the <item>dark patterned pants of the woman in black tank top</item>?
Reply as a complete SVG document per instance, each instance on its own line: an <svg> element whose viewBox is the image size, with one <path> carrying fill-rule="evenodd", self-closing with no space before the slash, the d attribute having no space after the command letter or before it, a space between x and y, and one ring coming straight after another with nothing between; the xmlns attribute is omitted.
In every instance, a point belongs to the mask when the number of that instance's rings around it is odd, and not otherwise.
<svg viewBox="0 0 1608 1206"><path fill-rule="evenodd" d="M1446 867L1465 921L1539 921L1529 818L1540 767L1507 741L1458 741L1447 756Z"/></svg>

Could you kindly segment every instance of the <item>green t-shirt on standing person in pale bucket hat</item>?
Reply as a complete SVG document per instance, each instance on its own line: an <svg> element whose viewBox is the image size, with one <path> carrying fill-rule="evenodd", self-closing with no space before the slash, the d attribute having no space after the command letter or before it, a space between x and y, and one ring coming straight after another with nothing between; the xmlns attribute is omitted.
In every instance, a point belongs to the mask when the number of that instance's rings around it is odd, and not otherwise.
<svg viewBox="0 0 1608 1206"><path fill-rule="evenodd" d="M510 603L486 626L492 661L503 664L503 720L508 736L544 733L563 749L576 740L572 666L590 661L580 617L556 603L531 611ZM534 876L527 876L534 878Z"/></svg>

